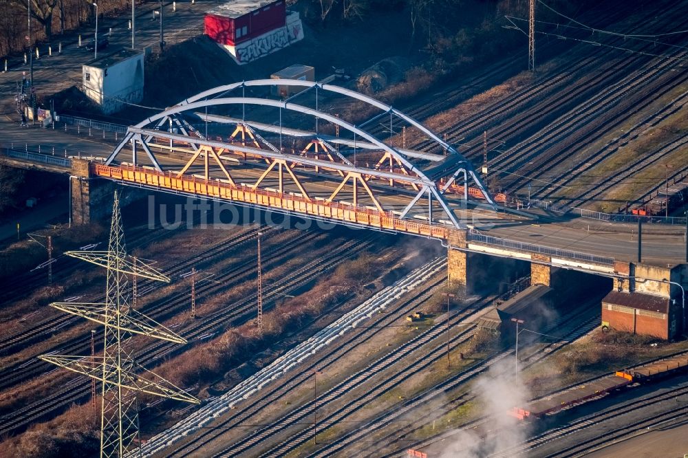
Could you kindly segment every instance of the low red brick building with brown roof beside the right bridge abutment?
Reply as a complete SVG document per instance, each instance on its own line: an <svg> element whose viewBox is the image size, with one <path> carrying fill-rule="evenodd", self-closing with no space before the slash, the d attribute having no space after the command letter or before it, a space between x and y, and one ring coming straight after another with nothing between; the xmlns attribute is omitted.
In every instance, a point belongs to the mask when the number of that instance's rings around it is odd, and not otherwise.
<svg viewBox="0 0 688 458"><path fill-rule="evenodd" d="M669 298L612 291L602 300L602 325L644 336L671 339L678 334L680 307Z"/></svg>

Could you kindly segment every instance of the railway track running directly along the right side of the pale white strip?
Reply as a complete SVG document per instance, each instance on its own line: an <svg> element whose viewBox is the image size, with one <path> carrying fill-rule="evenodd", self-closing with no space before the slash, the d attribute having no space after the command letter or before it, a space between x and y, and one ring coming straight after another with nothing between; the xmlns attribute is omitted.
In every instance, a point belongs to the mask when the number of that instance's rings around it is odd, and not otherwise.
<svg viewBox="0 0 688 458"><path fill-rule="evenodd" d="M444 258L440 259L439 262L443 263ZM211 442L217 440L224 430L241 427L241 424L250 421L250 419L255 417L261 410L270 405L274 405L276 402L282 400L283 397L286 397L290 391L301 386L307 381L313 370L317 368L317 370L323 371L328 367L333 367L334 364L341 360L347 353L350 353L350 351L360 347L376 336L380 329L393 324L396 320L403 318L407 314L413 312L413 310L421 307L431 296L437 285L437 281L431 281L418 292L413 290L413 293L407 293L405 301L394 301L389 303L389 305L385 307L384 314L372 314L366 321L365 326L352 329L349 333L341 336L341 338L337 338L330 346L315 353L312 358L301 362L301 367L297 373L294 373L294 375L291 375L283 382L281 379L275 380L275 382L272 382L272 384L264 388L266 393L262 394L255 402L244 406L239 404L237 409L231 411L231 416L228 419L223 420L210 430L203 431L191 441L182 444L174 450L164 450L165 456L184 457L191 455L193 452L197 452L208 446L208 444L211 444ZM385 290L379 292L376 296L382 294L385 294ZM408 296L409 294L411 294L411 297ZM374 300L374 298L368 301L372 300Z"/></svg>

